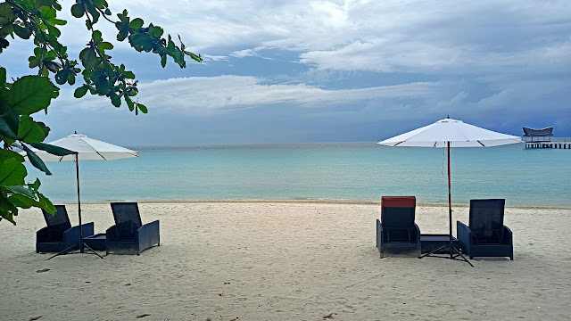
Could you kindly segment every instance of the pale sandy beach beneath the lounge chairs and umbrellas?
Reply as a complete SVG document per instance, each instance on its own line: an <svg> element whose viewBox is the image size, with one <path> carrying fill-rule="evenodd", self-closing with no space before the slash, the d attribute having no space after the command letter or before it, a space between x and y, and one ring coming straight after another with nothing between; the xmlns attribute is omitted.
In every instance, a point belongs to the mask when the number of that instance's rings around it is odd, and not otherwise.
<svg viewBox="0 0 571 321"><path fill-rule="evenodd" d="M39 210L0 224L0 319L568 320L571 209L510 208L515 260L379 258L378 204L139 203L161 220L140 256L35 252ZM68 205L72 224L77 206ZM82 206L95 233L109 204ZM417 206L423 234L448 231L447 208ZM454 207L468 222L468 207ZM455 226L455 224L454 224ZM104 252L103 252L104 254ZM45 273L37 270L49 268ZM137 318L137 316L148 315Z"/></svg>

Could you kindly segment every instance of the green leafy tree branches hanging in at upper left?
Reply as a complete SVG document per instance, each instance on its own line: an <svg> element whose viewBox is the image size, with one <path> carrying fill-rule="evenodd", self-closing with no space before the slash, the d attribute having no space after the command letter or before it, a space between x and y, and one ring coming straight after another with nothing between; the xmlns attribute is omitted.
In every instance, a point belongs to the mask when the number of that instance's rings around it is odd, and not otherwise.
<svg viewBox="0 0 571 321"><path fill-rule="evenodd" d="M0 66L0 220L2 218L16 224L14 216L18 209L37 207L55 212L54 205L39 192L40 181L25 183L28 175L22 164L24 157L14 152L15 147L26 152L31 164L51 175L46 164L37 157L29 146L56 155L66 155L72 151L44 144L50 128L43 122L35 121L32 115L45 111L59 95L59 86L66 83L76 85L74 96L81 98L90 95L106 96L115 107L124 102L129 111L147 113L143 103L139 103L135 74L124 64L116 65L109 53L112 43L103 39L100 30L95 29L99 21L112 23L118 41L128 41L137 52L156 53L161 57L164 68L168 57L186 68L186 57L202 62L200 54L186 50L178 37L176 45L164 30L141 18L128 16L127 10L118 13L113 20L112 12L105 0L76 0L71 6L75 18L85 19L86 28L91 33L87 45L79 53L79 61L70 58L67 46L62 45L60 26L67 21L58 19L62 11L57 0L6 0L0 3L0 53L10 45L10 39L20 37L35 45L30 55L29 68L37 70L37 75L24 76L8 82L6 69Z"/></svg>

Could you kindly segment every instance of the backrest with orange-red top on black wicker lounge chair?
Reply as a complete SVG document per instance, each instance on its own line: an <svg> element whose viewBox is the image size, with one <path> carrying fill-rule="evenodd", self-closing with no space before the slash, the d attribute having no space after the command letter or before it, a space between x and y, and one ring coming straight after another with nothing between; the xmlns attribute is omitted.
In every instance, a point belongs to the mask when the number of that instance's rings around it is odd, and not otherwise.
<svg viewBox="0 0 571 321"><path fill-rule="evenodd" d="M414 210L417 199L414 196L382 196L381 223L384 227L414 227Z"/></svg>

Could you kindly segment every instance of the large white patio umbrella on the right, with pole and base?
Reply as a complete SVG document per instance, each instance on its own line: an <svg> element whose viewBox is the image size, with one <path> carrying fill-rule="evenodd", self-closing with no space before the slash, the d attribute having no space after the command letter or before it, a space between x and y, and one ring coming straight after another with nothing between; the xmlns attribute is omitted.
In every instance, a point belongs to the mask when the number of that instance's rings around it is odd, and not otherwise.
<svg viewBox="0 0 571 321"><path fill-rule="evenodd" d="M484 128L478 128L461 120L451 119L448 117L446 119L438 120L434 124L427 125L423 128L418 128L408 133L385 139L384 141L377 144L399 147L446 147L448 153L448 217L450 221L450 259L454 259L454 251L459 256L462 255L458 249L452 245L452 203L450 181L451 147L492 147L504 144L516 144L521 142L521 137L501 134ZM436 251L440 251L442 249L443 248L440 248ZM464 256L462 256L462 258L468 262L468 259L464 258Z"/></svg>

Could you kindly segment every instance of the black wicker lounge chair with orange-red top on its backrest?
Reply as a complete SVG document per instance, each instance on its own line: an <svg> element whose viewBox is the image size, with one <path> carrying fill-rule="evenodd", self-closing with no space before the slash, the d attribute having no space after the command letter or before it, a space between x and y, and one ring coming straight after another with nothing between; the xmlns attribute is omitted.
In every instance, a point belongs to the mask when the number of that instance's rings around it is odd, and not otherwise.
<svg viewBox="0 0 571 321"><path fill-rule="evenodd" d="M385 253L420 255L420 229L414 223L414 196L381 197L381 219L377 219L377 248Z"/></svg>

